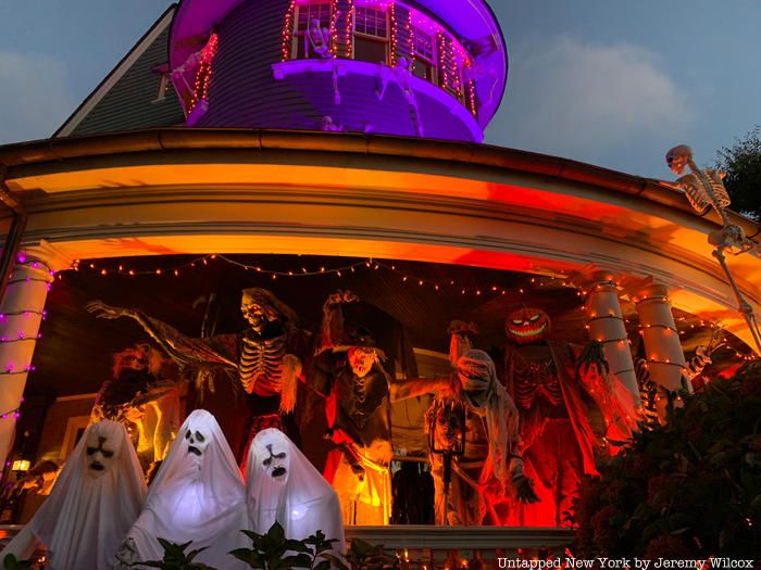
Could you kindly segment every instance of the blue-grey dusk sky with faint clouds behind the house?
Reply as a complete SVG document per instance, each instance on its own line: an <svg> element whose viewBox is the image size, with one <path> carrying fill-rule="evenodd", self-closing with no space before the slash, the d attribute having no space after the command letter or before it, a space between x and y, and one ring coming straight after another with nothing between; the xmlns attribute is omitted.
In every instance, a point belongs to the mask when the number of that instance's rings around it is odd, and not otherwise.
<svg viewBox="0 0 761 570"><path fill-rule="evenodd" d="M446 0L440 0L446 1ZM761 124L760 0L489 0L510 73L486 142L672 178ZM49 137L169 5L0 0L0 143Z"/></svg>

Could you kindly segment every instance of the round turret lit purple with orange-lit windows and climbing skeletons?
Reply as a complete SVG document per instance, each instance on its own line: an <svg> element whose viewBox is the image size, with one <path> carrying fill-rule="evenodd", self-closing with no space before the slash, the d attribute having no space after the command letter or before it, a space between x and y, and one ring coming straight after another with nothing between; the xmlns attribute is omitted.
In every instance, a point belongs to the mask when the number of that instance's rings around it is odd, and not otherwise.
<svg viewBox="0 0 761 570"><path fill-rule="evenodd" d="M507 79L485 0L183 0L170 64L188 126L475 142Z"/></svg>

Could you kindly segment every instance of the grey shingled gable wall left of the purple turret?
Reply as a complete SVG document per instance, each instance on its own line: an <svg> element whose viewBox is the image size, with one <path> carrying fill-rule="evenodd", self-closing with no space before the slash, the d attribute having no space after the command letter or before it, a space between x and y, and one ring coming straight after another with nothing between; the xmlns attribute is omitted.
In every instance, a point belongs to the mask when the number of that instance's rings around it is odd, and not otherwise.
<svg viewBox="0 0 761 570"><path fill-rule="evenodd" d="M183 109L171 89L166 98L155 101L160 76L153 71L166 63L169 26L138 58L124 76L77 125L72 135L96 135L147 127L185 124Z"/></svg>

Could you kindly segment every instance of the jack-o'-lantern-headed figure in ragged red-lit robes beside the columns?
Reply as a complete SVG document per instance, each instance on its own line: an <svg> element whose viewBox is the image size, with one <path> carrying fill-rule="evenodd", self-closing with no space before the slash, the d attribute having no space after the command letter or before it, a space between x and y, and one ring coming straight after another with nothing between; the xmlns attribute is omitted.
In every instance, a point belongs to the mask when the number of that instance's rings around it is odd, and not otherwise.
<svg viewBox="0 0 761 570"><path fill-rule="evenodd" d="M563 512L571 511L582 476L597 474L597 442L581 389L598 402L609 401L601 394L607 392L607 363L599 343L589 343L576 357L570 344L549 341L550 326L547 313L528 307L513 312L506 322L506 381L521 414L526 474L536 481L541 499L516 505L510 524L564 524Z"/></svg>

